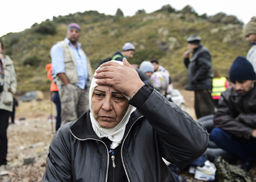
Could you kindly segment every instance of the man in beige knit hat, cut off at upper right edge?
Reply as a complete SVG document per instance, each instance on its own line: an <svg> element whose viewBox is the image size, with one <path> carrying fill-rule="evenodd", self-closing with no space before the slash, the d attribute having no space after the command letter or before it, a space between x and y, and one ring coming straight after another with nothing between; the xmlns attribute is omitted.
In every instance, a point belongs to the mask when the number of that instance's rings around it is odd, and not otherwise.
<svg viewBox="0 0 256 182"><path fill-rule="evenodd" d="M252 17L244 26L243 33L249 42L249 46L252 46L247 53L246 59L253 65L254 72L256 72L256 17Z"/></svg>

